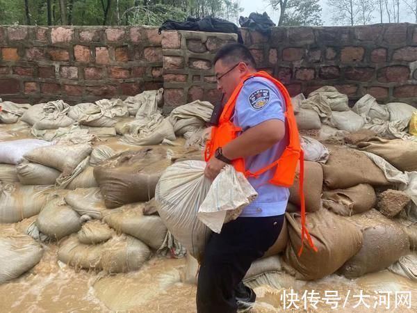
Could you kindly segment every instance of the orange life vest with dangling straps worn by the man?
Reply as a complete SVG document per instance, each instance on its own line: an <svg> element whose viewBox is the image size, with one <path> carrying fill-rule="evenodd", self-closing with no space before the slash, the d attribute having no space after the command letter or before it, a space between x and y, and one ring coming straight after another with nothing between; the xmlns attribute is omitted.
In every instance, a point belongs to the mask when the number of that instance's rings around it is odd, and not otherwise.
<svg viewBox="0 0 417 313"><path fill-rule="evenodd" d="M288 132L288 145L284 152L281 154L281 157L276 161L270 163L268 166L261 168L256 172L250 172L245 169L245 160L243 158L235 159L232 161L232 165L238 172L243 172L246 177L259 177L267 170L275 167L275 174L272 179L270 179L270 184L275 184L277 186L291 187L294 183L295 171L297 168L297 163L300 161L300 202L301 202L301 225L302 225L302 234L301 234L301 247L298 252L300 256L303 250L304 239L307 239L309 245L313 250L317 251L316 246L314 246L311 236L306 229L305 225L305 204L304 204L304 191L303 191L303 182L304 182L304 152L300 146L300 138L298 134L297 122L295 121L293 106L291 104L291 97L288 95L288 91L277 79L271 77L267 72L256 72L253 74L248 74L243 77L242 81L235 88L231 97L227 101L220 115L220 120L217 127L212 127L211 130L211 139L206 143L206 150L204 152L204 159L208 161L213 157L215 150L218 147L224 147L230 141L233 141L234 138L238 136L238 133L242 131L240 127L236 127L231 118L234 115L234 109L236 106L236 99L240 93L240 90L243 88L243 84L247 79L251 77L263 77L272 81L275 86L279 89L281 94L284 96L285 100L285 120L286 120L286 131Z"/></svg>

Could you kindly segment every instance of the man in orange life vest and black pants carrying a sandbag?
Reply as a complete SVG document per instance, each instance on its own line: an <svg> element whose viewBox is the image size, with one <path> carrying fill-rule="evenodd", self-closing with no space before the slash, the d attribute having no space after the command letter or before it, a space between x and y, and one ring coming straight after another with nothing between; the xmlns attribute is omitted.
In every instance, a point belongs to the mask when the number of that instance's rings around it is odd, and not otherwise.
<svg viewBox="0 0 417 313"><path fill-rule="evenodd" d="M288 186L271 183L277 166L265 170L280 159L289 143L285 114L288 93L285 90L284 97L284 86L278 88L268 74L257 76L254 58L244 45L223 46L214 63L218 89L229 100L206 147L204 174L214 179L227 163L233 163L236 170L255 173L247 179L259 195L239 218L224 224L222 232L208 240L197 284L199 313L236 312L245 302L254 302L254 291L242 280L252 262L262 257L279 236L289 197ZM238 131L236 136L230 134L234 131ZM229 140L223 140L229 135Z"/></svg>

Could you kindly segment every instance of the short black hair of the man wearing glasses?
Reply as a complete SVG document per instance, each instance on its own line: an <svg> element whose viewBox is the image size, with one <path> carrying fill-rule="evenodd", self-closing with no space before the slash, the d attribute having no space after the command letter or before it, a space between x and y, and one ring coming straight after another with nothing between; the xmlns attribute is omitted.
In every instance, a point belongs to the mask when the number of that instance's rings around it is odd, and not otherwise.
<svg viewBox="0 0 417 313"><path fill-rule="evenodd" d="M226 63L238 63L245 62L248 65L256 68L256 62L250 50L245 45L238 42L229 43L224 45L215 54L213 64L217 61L222 60Z"/></svg>

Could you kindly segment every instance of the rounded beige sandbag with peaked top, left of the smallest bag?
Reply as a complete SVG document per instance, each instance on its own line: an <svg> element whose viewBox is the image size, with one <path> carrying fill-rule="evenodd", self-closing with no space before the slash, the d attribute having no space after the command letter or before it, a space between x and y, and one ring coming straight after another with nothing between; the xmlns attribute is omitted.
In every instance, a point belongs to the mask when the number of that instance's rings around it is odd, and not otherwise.
<svg viewBox="0 0 417 313"><path fill-rule="evenodd" d="M81 229L81 218L60 195L53 195L44 205L36 225L40 232L59 240Z"/></svg>

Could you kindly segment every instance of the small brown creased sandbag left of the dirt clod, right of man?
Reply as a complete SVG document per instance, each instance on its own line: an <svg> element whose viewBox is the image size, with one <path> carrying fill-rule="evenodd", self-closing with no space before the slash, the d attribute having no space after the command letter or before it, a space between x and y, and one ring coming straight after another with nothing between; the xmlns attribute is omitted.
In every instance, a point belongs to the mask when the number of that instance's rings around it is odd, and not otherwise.
<svg viewBox="0 0 417 313"><path fill-rule="evenodd" d="M377 195L370 184L323 191L323 207L342 216L352 216L372 209L377 203Z"/></svg>

